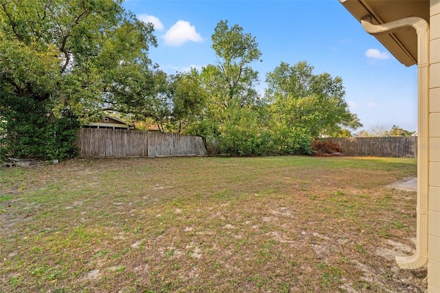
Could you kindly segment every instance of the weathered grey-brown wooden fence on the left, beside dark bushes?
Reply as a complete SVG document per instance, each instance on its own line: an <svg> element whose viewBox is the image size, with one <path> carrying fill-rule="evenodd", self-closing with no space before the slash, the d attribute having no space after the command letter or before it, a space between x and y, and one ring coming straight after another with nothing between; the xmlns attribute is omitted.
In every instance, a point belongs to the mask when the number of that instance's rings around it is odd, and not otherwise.
<svg viewBox="0 0 440 293"><path fill-rule="evenodd" d="M76 145L81 158L206 155L199 136L156 131L80 128Z"/></svg>

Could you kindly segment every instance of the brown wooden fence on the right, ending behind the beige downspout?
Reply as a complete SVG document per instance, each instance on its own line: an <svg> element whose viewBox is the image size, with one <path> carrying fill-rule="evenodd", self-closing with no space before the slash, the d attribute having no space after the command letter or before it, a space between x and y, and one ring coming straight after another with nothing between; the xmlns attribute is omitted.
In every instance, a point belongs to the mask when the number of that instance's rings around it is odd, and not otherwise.
<svg viewBox="0 0 440 293"><path fill-rule="evenodd" d="M382 138L317 138L342 148L344 155L417 158L417 136L386 136Z"/></svg>

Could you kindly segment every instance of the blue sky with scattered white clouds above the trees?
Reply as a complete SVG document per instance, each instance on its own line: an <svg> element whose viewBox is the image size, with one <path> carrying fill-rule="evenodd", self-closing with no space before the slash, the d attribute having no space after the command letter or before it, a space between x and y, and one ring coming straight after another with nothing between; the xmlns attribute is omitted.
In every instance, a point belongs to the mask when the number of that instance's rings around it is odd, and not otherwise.
<svg viewBox="0 0 440 293"><path fill-rule="evenodd" d="M168 74L215 64L211 35L228 20L259 43L263 62L251 66L261 91L281 61L307 61L315 74L342 78L362 129L417 130L417 67L399 63L338 0L126 0L124 8L155 25L150 57Z"/></svg>

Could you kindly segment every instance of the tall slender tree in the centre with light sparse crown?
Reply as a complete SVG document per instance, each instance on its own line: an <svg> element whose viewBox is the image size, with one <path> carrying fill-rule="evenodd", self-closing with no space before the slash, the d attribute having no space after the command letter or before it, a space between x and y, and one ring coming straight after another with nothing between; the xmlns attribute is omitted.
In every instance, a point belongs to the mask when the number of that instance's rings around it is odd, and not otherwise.
<svg viewBox="0 0 440 293"><path fill-rule="evenodd" d="M259 123L259 74L251 64L261 61L256 38L240 25L219 21L212 34L217 63L203 67L201 86L207 94L203 116L191 128L219 151L234 155L264 153L264 127ZM264 137L264 139L263 139Z"/></svg>

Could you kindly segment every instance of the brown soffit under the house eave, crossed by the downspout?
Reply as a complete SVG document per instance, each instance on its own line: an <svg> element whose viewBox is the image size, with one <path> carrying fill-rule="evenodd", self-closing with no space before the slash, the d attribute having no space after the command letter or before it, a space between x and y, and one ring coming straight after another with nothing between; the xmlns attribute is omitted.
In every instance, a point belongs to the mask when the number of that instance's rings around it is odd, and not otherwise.
<svg viewBox="0 0 440 293"><path fill-rule="evenodd" d="M367 15L374 24L388 23L406 17L421 17L429 23L429 0L340 0L360 21ZM412 28L375 38L406 66L417 64L417 34Z"/></svg>

